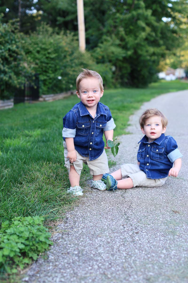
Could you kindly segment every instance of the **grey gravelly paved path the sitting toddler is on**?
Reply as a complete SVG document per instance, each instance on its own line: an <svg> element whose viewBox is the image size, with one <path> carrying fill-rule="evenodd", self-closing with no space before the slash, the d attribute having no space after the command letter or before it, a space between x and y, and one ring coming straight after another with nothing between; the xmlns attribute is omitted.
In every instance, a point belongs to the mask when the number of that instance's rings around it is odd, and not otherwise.
<svg viewBox="0 0 188 283"><path fill-rule="evenodd" d="M29 283L187 283L188 282L188 91L167 93L143 104L130 117L132 134L121 136L115 160L136 163L141 113L150 107L168 118L183 154L177 178L159 188L85 192L53 236L54 245L29 269ZM110 156L112 156L110 154ZM112 156L113 157L113 156Z"/></svg>

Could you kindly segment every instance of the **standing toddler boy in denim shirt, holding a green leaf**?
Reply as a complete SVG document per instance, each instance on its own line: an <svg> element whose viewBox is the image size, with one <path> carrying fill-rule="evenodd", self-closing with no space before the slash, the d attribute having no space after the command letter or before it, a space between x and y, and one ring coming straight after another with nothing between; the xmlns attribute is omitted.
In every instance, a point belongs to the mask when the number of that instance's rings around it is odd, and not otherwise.
<svg viewBox="0 0 188 283"><path fill-rule="evenodd" d="M70 188L67 192L82 196L79 185L83 162L93 175L92 187L106 190L101 178L109 172L108 159L104 150L103 133L106 141L113 140L116 127L108 106L99 102L103 96L103 80L92 70L83 71L76 79L76 94L81 100L63 118L63 146L65 167L68 170ZM110 148L107 144L107 147Z"/></svg>

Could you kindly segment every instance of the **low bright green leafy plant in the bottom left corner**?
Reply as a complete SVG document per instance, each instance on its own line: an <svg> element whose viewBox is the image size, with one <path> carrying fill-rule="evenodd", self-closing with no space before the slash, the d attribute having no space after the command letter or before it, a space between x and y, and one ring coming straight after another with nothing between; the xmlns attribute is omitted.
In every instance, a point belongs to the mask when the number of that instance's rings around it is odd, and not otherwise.
<svg viewBox="0 0 188 283"><path fill-rule="evenodd" d="M51 234L43 226L43 218L15 217L12 222L2 223L0 230L0 272L16 273L16 267L21 269L26 264L36 260L52 241Z"/></svg>

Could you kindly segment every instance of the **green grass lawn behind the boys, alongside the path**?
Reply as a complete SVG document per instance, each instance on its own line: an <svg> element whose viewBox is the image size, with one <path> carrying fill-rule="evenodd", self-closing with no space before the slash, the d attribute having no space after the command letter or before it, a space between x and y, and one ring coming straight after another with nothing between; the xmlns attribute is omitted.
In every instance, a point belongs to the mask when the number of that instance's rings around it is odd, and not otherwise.
<svg viewBox="0 0 188 283"><path fill-rule="evenodd" d="M101 102L114 118L114 137L125 132L129 116L145 101L162 93L188 89L179 81L152 83L146 89L108 89ZM14 216L62 216L75 198L66 193L70 186L64 167L62 127L64 115L79 99L16 104L0 111L0 222ZM131 145L130 145L131 146ZM89 177L85 166L84 187Z"/></svg>

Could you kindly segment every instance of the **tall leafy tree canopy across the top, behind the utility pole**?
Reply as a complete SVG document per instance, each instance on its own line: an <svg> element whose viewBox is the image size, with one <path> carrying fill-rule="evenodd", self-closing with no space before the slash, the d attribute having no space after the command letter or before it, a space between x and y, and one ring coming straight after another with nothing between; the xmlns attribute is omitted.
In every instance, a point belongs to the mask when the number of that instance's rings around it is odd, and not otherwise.
<svg viewBox="0 0 188 283"><path fill-rule="evenodd" d="M0 9L4 22L18 17L24 33L44 22L78 38L76 0L0 0ZM84 14L87 50L108 64L116 85L148 85L160 61L186 39L186 0L84 0Z"/></svg>

